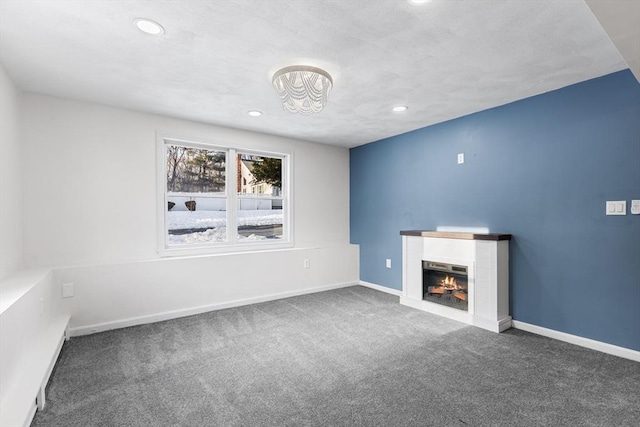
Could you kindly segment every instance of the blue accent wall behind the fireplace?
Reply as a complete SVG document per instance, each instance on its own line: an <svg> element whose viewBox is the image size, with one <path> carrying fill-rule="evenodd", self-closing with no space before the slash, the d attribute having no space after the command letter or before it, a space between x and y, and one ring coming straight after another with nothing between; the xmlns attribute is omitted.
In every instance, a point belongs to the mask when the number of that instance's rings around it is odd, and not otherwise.
<svg viewBox="0 0 640 427"><path fill-rule="evenodd" d="M605 216L640 199L629 70L353 148L350 179L361 280L402 288L400 230L488 227L515 320L640 350L640 215Z"/></svg>

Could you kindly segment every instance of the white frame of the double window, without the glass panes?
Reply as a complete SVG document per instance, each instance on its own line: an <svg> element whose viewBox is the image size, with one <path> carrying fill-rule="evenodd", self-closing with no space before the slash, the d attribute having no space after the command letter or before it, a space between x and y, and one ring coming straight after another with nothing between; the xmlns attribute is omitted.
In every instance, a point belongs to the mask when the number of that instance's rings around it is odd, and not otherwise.
<svg viewBox="0 0 640 427"><path fill-rule="evenodd" d="M224 242L211 242L203 244L174 245L167 244L167 146L181 145L190 148L223 151L226 153L225 165L225 198L227 202L227 240ZM293 151L267 151L240 147L234 144L204 141L201 138L184 139L166 134L157 135L157 240L158 253L161 256L188 256L215 253L234 253L245 251L262 251L292 248L293 240ZM276 157L282 159L282 188L281 195L265 197L270 199L282 199L282 238L278 240L252 240L239 241L237 236L237 211L239 199L242 195L237 192L237 155L249 154L255 156Z"/></svg>

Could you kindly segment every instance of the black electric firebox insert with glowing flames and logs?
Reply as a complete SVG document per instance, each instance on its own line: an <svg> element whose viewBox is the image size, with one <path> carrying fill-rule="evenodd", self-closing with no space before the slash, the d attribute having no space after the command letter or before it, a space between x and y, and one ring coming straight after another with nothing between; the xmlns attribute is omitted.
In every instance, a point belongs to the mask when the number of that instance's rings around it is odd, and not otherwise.
<svg viewBox="0 0 640 427"><path fill-rule="evenodd" d="M467 267L442 262L422 261L424 301L462 311L469 310Z"/></svg>

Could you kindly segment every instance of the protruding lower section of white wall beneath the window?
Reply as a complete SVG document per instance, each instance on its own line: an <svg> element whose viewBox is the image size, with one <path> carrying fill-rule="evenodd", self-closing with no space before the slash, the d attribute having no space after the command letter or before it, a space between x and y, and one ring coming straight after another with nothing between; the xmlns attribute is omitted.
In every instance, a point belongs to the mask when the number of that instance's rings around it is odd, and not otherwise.
<svg viewBox="0 0 640 427"><path fill-rule="evenodd" d="M303 261L310 260L310 268ZM82 335L356 284L354 246L175 258L56 269Z"/></svg>

